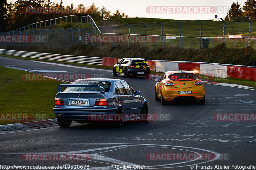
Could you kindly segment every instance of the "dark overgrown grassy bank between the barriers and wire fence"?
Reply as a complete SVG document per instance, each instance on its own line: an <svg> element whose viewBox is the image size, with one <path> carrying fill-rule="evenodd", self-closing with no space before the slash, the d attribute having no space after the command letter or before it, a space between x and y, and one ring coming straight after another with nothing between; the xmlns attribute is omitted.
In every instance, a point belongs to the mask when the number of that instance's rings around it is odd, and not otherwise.
<svg viewBox="0 0 256 170"><path fill-rule="evenodd" d="M249 66L250 62L256 62L256 51L251 47L228 48L225 44L219 44L210 49L178 48L178 47L152 47L152 46L116 46L93 47L88 45L76 45L68 49L56 49L51 47L13 47L7 49L32 51L41 53L57 53L66 55L81 55L91 57L139 57L148 60L173 60L210 62L220 64L235 64Z"/></svg>

